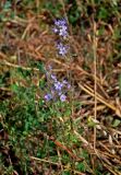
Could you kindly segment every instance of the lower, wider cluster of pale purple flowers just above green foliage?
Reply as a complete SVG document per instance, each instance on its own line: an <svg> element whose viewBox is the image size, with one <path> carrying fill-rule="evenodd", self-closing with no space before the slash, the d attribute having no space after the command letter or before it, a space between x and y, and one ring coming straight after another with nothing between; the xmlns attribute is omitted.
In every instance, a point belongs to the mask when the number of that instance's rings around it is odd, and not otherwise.
<svg viewBox="0 0 121 175"><path fill-rule="evenodd" d="M62 82L60 82L57 80L57 77L55 74L50 74L48 72L47 79L49 80L50 92L45 95L45 101L48 102L50 100L59 98L61 102L64 102L66 100L66 90L71 88L68 81L63 80Z"/></svg>

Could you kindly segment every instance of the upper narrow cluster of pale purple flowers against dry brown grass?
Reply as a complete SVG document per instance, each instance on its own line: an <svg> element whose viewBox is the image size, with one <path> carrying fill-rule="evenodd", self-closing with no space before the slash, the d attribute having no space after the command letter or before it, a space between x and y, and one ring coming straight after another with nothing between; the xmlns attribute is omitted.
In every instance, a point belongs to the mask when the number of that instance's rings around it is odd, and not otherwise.
<svg viewBox="0 0 121 175"><path fill-rule="evenodd" d="M56 20L55 21L55 27L53 33L58 34L60 36L60 40L57 44L57 49L59 55L62 57L66 55L69 47L63 44L64 39L68 37L68 23L65 19L62 20Z"/></svg>

